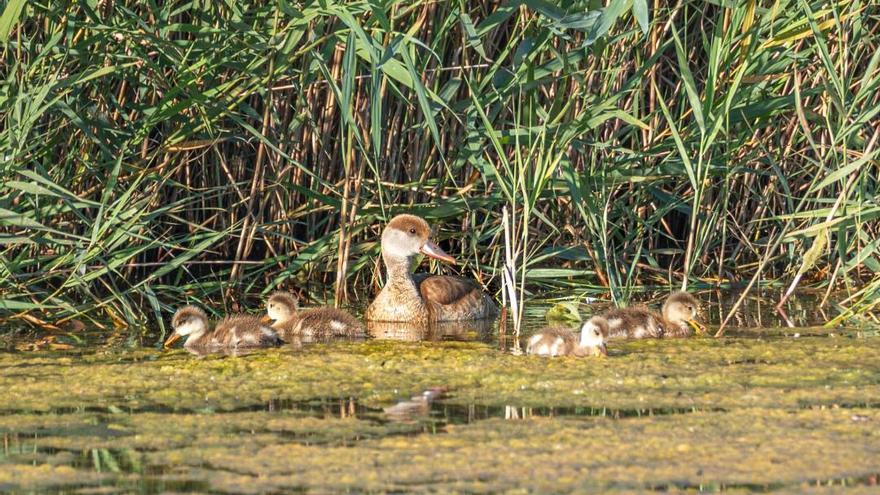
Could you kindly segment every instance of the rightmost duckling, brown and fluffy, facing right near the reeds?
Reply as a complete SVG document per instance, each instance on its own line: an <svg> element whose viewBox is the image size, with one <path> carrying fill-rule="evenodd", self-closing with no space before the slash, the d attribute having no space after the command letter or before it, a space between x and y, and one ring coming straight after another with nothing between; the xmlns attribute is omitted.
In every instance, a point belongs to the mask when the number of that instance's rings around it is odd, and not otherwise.
<svg viewBox="0 0 880 495"><path fill-rule="evenodd" d="M644 305L637 305L612 309L602 316L608 320L608 336L611 338L688 337L693 334L691 326L698 333L703 331L695 320L699 307L700 303L694 296L678 291L666 298L661 314Z"/></svg>

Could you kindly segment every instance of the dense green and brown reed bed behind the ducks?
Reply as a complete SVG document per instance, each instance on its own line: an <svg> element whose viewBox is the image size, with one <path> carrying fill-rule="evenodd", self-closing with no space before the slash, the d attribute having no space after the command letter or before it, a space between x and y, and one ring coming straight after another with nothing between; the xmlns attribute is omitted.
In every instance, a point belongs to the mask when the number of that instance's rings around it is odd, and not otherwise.
<svg viewBox="0 0 880 495"><path fill-rule="evenodd" d="M358 303L400 211L499 292L504 206L527 291L775 280L871 318L878 30L865 0L11 0L0 318Z"/></svg>

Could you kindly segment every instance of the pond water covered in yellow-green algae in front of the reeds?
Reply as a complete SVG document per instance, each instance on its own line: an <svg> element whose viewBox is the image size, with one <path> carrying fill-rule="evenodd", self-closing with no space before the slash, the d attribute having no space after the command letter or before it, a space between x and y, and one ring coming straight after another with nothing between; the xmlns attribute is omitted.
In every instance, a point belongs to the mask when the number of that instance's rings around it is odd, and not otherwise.
<svg viewBox="0 0 880 495"><path fill-rule="evenodd" d="M703 299L717 324L729 300ZM529 305L526 335L552 303ZM150 333L10 342L0 491L874 492L880 339L817 326L809 298L772 306L605 359L516 355L495 325L242 356Z"/></svg>

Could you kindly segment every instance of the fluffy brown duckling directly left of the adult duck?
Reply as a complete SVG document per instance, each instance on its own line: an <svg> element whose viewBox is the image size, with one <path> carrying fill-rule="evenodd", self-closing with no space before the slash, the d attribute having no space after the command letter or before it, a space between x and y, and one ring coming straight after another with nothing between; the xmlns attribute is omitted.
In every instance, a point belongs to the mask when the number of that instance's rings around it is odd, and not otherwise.
<svg viewBox="0 0 880 495"><path fill-rule="evenodd" d="M315 308L299 311L299 299L289 292L275 292L266 301L266 315L281 338L326 339L363 337L364 327L341 309Z"/></svg>

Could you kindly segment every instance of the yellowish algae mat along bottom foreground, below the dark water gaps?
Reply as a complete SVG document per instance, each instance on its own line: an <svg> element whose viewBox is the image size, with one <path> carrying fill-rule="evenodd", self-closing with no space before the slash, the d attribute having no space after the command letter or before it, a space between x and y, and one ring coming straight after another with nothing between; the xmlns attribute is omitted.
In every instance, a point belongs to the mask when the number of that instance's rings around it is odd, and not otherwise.
<svg viewBox="0 0 880 495"><path fill-rule="evenodd" d="M853 413L867 413L853 421ZM659 418L490 419L442 435L388 437L316 456L301 444L190 448L170 459L213 487L541 492L675 487L682 480L797 486L874 473L876 411L744 410ZM816 436L815 431L823 431ZM674 439L671 441L671 439ZM793 456L796 448L798 455ZM803 452L803 454L801 454ZM156 459L158 461L158 459ZM366 461L366 462L365 462ZM216 471L199 473L210 465Z"/></svg>

